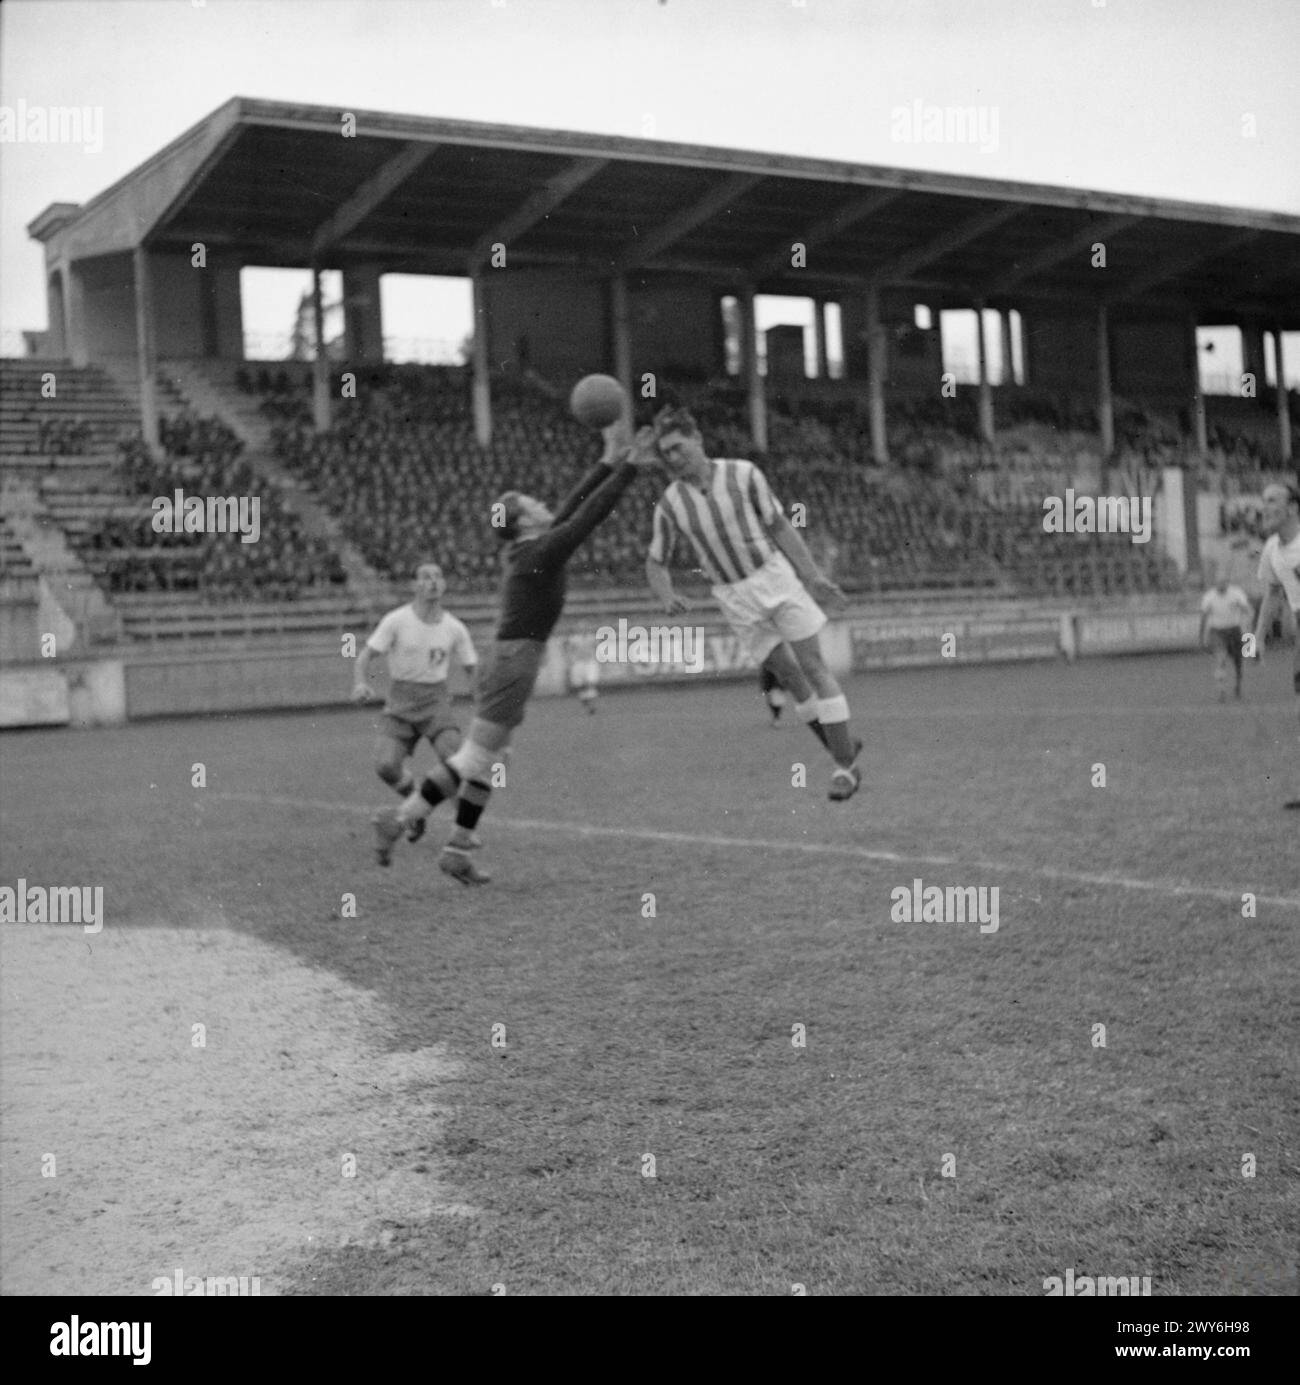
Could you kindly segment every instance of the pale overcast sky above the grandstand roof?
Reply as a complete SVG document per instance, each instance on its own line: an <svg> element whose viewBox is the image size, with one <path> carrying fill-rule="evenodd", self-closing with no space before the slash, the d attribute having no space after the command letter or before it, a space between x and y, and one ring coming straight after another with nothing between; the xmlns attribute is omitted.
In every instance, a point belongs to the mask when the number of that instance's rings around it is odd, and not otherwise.
<svg viewBox="0 0 1300 1385"><path fill-rule="evenodd" d="M26 223L231 96L1300 215L1300 0L4 0L0 107L102 108L96 151L0 144L10 349L46 325ZM986 138L900 140L918 101Z"/></svg>

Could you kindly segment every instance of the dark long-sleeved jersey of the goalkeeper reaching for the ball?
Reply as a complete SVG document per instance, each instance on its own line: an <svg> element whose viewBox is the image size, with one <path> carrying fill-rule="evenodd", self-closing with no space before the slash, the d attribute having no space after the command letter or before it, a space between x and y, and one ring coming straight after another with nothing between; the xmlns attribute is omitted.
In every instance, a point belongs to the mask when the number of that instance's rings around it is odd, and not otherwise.
<svg viewBox="0 0 1300 1385"><path fill-rule="evenodd" d="M635 475L635 467L612 470L597 463L565 497L545 533L505 550L498 640L550 637L565 608L565 565Z"/></svg>

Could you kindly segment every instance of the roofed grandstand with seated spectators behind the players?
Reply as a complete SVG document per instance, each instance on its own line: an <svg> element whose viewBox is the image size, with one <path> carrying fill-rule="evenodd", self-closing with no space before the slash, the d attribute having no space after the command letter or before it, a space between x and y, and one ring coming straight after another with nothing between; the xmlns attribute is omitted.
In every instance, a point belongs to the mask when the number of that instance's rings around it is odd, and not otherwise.
<svg viewBox="0 0 1300 1385"><path fill-rule="evenodd" d="M759 461L807 508L860 616L1178 609L1199 580L1196 490L1227 503L1290 464L1294 396L1207 400L1186 345L1195 321L1236 321L1250 359L1265 327L1281 352L1300 325L1294 217L375 112L339 158L336 115L234 100L29 227L51 355L0 367L6 590L53 601L82 654L323 648L393 604L431 553L457 608L486 618L486 507L511 486L555 496L591 456L563 407L587 368L651 379L652 397L634 391L645 417L677 399L713 454ZM234 217L285 161L302 170L294 187ZM651 227L635 244L633 222ZM1081 267L1098 237L1120 265L1105 295ZM195 242L212 256L202 273ZM504 242L512 269L493 277L486 256ZM811 270L778 253L793 242ZM245 360L249 263L309 265L317 289L323 267L342 269L342 339L318 339L316 361ZM377 285L395 270L469 273L480 331L465 367L383 363ZM764 379L753 298L792 291L818 305L820 374L770 353ZM832 301L840 379L825 370ZM1015 306L1027 379L994 389L982 353L976 385L940 391L937 332L914 327L914 303L936 317ZM1150 494L1167 476L1188 494L1170 493L1159 542L1042 532L1048 494ZM259 540L155 533L151 501L177 489L256 496ZM593 537L573 619L645 605L651 506L638 490ZM1220 528L1243 537L1228 511ZM26 645L8 658L32 658Z"/></svg>

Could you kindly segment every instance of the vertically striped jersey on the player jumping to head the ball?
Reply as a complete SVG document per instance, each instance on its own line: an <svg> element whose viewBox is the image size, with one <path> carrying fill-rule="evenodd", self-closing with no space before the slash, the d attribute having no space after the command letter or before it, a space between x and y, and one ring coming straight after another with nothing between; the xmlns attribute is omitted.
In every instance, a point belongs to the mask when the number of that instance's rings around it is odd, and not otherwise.
<svg viewBox="0 0 1300 1385"><path fill-rule="evenodd" d="M748 578L779 551L766 526L782 510L752 461L713 457L709 468L705 489L694 481L674 481L659 497L649 555L666 566L684 535L705 575L719 586Z"/></svg>

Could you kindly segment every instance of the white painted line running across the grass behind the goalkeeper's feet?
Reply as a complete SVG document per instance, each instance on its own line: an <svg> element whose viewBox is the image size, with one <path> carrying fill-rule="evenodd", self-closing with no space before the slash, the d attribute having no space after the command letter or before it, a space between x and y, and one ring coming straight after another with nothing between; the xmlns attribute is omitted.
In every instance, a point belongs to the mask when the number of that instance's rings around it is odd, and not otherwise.
<svg viewBox="0 0 1300 1385"><path fill-rule="evenodd" d="M325 799L285 798L277 794L217 794L208 798L235 803L267 803L274 807L309 807L323 813L352 813L368 817L371 809L357 803L334 803ZM1092 875L1087 871L1056 870L1052 866L1008 866L1005 861L972 861L957 856L930 856L922 852L874 852L865 846L842 846L835 842L781 842L755 837L709 837L699 832L656 832L630 827L588 827L586 823L565 823L530 817L491 819L493 827L508 827L521 832L569 832L573 837L615 837L624 841L665 842L673 846L734 846L752 852L803 852L809 856L839 856L847 860L912 863L919 866L961 866L962 870L1001 873L1008 875L1037 875L1041 879L1067 881L1073 885L1101 885L1112 889L1138 889L1153 895L1173 895L1189 899L1221 899L1240 904L1242 891L1220 889L1214 885L1180 885L1177 881L1137 879L1131 875ZM1257 895L1257 904L1278 909L1300 909L1300 895Z"/></svg>

